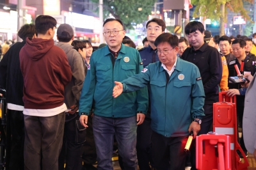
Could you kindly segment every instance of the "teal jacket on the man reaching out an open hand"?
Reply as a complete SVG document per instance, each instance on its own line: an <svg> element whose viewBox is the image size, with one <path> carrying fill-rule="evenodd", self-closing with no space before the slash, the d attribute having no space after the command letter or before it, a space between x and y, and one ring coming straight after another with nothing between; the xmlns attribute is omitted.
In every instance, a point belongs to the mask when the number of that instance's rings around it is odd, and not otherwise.
<svg viewBox="0 0 256 170"><path fill-rule="evenodd" d="M150 84L152 130L165 137L189 135L193 118L204 116L205 93L200 72L194 64L177 58L175 70L166 83L166 71L161 65L159 61L152 63L122 81L124 92Z"/></svg>

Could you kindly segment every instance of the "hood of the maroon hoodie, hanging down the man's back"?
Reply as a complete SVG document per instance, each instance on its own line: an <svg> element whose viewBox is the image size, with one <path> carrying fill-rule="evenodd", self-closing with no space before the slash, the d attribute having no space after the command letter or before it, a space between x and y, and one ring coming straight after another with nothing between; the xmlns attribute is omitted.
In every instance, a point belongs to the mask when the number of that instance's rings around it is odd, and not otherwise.
<svg viewBox="0 0 256 170"><path fill-rule="evenodd" d="M42 58L54 46L53 39L27 38L24 50L33 61Z"/></svg>

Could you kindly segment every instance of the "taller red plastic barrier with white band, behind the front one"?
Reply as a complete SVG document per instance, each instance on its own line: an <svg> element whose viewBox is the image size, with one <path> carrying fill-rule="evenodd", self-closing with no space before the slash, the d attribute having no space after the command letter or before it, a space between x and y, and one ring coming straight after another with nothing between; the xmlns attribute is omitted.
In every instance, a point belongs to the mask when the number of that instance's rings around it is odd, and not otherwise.
<svg viewBox="0 0 256 170"><path fill-rule="evenodd" d="M245 170L249 163L237 142L236 96L228 97L226 92L221 92L219 100L220 102L213 104L213 131L216 134L225 134L230 137L232 169ZM237 150L242 153L244 163L240 161Z"/></svg>

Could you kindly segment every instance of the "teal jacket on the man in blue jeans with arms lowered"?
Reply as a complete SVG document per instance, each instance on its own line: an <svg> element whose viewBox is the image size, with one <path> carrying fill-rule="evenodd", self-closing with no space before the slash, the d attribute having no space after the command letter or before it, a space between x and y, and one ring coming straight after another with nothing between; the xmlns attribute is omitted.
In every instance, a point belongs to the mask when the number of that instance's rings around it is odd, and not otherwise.
<svg viewBox="0 0 256 170"><path fill-rule="evenodd" d="M124 81L143 69L138 50L122 44L115 64L108 46L93 52L79 102L79 114L88 115L93 107L97 116L128 118L147 113L147 87L113 98L114 81Z"/></svg>

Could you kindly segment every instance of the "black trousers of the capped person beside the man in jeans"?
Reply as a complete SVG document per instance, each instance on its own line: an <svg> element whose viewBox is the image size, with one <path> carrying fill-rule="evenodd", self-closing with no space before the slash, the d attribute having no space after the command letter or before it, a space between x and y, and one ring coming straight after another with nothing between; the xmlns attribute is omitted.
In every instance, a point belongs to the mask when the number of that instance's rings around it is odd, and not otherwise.
<svg viewBox="0 0 256 170"><path fill-rule="evenodd" d="M77 125L80 125L79 114L70 115L73 119L67 119L65 122L63 145L59 157L59 170L64 169L64 163L66 163L65 170L81 170L82 165L82 153L83 143L85 141L85 128L78 129ZM68 117L68 115L66 115ZM83 130L84 128L84 130ZM77 139L81 139L77 141Z"/></svg>

